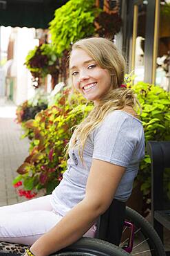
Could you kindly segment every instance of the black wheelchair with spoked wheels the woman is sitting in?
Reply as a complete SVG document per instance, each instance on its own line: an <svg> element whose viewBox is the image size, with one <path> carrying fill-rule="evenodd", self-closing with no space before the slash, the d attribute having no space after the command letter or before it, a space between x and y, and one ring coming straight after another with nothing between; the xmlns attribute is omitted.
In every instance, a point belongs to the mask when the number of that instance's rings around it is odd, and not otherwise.
<svg viewBox="0 0 170 256"><path fill-rule="evenodd" d="M116 199L99 218L95 238L83 237L53 256L166 256L160 237L138 212Z"/></svg>

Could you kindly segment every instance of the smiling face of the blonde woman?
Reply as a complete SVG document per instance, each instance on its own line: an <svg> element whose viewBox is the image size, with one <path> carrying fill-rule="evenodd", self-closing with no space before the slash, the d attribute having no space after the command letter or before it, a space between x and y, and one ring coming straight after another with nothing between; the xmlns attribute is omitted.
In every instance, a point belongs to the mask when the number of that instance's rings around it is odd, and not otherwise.
<svg viewBox="0 0 170 256"><path fill-rule="evenodd" d="M107 69L98 64L81 48L76 48L70 56L70 74L76 90L87 100L97 104L111 89L111 76Z"/></svg>

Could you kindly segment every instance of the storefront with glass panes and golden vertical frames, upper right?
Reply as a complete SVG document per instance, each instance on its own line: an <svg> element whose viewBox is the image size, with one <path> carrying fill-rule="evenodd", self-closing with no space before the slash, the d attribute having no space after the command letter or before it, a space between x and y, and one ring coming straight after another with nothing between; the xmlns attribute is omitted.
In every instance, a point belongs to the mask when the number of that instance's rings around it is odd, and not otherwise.
<svg viewBox="0 0 170 256"><path fill-rule="evenodd" d="M170 1L122 0L122 51L136 81L169 90Z"/></svg>

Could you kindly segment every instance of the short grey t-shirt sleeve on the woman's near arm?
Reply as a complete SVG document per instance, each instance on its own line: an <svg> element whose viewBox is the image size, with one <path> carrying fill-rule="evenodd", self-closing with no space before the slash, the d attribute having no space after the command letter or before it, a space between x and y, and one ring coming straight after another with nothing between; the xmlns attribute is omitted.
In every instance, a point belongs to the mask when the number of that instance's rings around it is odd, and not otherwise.
<svg viewBox="0 0 170 256"><path fill-rule="evenodd" d="M93 158L127 167L138 145L141 128L140 121L123 111L109 113L94 131Z"/></svg>

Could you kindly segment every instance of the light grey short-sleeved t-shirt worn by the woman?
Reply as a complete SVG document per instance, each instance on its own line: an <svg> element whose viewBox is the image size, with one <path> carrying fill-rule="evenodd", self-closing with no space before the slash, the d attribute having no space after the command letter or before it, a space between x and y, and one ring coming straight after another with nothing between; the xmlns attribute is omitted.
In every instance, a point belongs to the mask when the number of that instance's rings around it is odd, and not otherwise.
<svg viewBox="0 0 170 256"><path fill-rule="evenodd" d="M127 201L140 160L145 156L142 122L125 111L111 111L87 138L83 150L84 164L76 147L70 150L69 156L63 179L52 192L51 203L56 212L65 215L83 200L93 158L126 167L114 198Z"/></svg>

